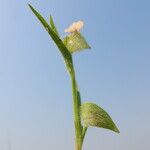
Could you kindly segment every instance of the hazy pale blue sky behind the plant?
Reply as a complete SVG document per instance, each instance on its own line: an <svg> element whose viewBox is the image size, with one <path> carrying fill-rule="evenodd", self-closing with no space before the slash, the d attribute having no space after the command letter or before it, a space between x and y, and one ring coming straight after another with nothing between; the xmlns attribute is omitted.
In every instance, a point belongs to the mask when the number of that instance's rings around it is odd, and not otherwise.
<svg viewBox="0 0 150 150"><path fill-rule="evenodd" d="M107 110L121 133L90 128L84 150L150 149L149 0L0 0L0 150L74 146L70 79L28 2L52 14L62 36L85 22L92 49L74 55L82 99Z"/></svg>

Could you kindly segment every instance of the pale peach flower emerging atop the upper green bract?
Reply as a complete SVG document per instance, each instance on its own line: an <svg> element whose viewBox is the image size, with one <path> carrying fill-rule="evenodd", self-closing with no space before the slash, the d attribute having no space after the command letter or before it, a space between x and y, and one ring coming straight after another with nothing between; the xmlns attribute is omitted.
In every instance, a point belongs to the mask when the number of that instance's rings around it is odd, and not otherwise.
<svg viewBox="0 0 150 150"><path fill-rule="evenodd" d="M69 28L65 29L65 32L73 33L75 31L80 31L83 28L84 22L83 21L77 21L72 23Z"/></svg>

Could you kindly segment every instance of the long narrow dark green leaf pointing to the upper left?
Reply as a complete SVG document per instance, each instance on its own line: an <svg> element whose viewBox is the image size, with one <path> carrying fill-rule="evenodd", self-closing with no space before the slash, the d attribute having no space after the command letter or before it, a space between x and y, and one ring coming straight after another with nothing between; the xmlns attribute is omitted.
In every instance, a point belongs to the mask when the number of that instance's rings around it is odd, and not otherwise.
<svg viewBox="0 0 150 150"><path fill-rule="evenodd" d="M57 47L59 48L68 71L71 73L72 69L73 69L73 64L72 64L72 56L71 53L68 51L68 49L66 48L66 46L64 45L63 41L59 38L59 36L56 33L56 28L55 31L54 29L54 24L53 29L49 26L49 24L46 22L46 20L41 16L41 14L39 12L37 12L30 4L28 4L30 9L32 10L32 12L35 14L35 16L39 19L39 21L42 23L42 25L44 26L44 28L46 29L46 31L49 33L49 35L51 36L51 38L53 39L53 41L55 42L55 44L57 45ZM51 20L52 21L52 20Z"/></svg>

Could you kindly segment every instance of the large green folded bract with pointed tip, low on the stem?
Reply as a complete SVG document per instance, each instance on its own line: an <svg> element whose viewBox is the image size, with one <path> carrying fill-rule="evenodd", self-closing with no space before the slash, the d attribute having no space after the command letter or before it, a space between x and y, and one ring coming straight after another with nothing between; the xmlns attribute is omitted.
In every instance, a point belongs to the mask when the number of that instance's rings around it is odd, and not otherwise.
<svg viewBox="0 0 150 150"><path fill-rule="evenodd" d="M80 107L81 120L84 126L95 126L118 132L119 130L114 124L108 113L101 107L93 103L83 103Z"/></svg>

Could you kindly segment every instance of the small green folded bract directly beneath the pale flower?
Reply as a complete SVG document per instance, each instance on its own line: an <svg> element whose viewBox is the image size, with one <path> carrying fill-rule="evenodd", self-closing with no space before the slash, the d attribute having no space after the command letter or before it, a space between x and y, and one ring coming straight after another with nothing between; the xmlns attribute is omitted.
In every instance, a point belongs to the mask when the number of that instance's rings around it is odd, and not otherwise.
<svg viewBox="0 0 150 150"><path fill-rule="evenodd" d="M91 48L81 33L77 31L66 36L64 38L64 44L71 53Z"/></svg>

